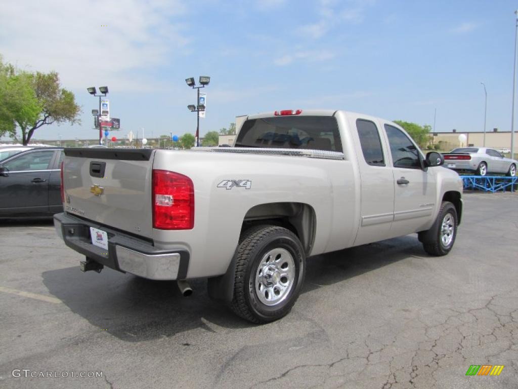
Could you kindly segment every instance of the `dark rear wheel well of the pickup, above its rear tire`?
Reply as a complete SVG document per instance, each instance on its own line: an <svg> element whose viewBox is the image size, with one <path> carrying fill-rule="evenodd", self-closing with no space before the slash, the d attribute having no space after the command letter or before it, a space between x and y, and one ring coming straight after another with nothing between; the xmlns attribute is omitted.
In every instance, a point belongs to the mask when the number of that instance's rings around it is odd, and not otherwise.
<svg viewBox="0 0 518 389"><path fill-rule="evenodd" d="M241 233L258 224L282 226L297 235L309 255L313 247L316 217L313 207L304 203L266 203L252 207L244 216Z"/></svg>

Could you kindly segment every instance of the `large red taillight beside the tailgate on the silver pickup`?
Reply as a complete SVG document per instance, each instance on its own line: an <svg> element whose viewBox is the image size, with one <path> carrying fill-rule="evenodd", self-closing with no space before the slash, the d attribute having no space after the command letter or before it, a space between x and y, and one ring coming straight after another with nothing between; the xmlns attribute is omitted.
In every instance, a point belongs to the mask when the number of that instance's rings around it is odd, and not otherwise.
<svg viewBox="0 0 518 389"><path fill-rule="evenodd" d="M191 178L153 170L153 228L190 230L194 227L194 185Z"/></svg>

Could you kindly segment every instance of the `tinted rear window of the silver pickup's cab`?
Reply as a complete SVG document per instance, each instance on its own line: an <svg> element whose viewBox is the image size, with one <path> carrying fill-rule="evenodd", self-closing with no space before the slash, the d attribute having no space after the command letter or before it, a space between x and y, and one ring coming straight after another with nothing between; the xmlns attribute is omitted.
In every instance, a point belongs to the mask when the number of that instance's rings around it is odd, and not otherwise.
<svg viewBox="0 0 518 389"><path fill-rule="evenodd" d="M338 123L332 116L281 116L243 123L235 147L342 151Z"/></svg>

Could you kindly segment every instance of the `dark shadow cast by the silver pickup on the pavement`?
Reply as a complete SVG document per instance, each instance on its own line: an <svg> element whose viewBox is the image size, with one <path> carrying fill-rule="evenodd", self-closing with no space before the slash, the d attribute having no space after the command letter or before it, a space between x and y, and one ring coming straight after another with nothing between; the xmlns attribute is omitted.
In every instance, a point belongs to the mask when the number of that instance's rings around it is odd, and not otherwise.
<svg viewBox="0 0 518 389"><path fill-rule="evenodd" d="M415 235L311 257L302 293L346 281L409 256L427 256ZM74 313L111 335L139 342L211 326L238 329L254 326L224 304L210 300L206 280L190 282L194 293L184 298L174 281L151 281L104 269L82 273L79 266L42 273L49 292Z"/></svg>

